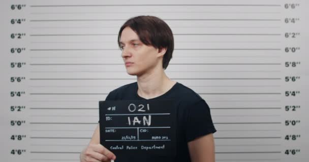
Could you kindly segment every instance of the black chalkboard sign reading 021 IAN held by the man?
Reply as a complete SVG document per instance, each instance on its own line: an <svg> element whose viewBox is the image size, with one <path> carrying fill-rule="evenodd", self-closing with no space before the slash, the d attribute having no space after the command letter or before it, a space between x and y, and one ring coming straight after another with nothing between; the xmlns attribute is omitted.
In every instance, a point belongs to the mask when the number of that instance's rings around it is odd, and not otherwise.
<svg viewBox="0 0 309 162"><path fill-rule="evenodd" d="M174 156L176 108L171 100L100 101L100 143L116 156Z"/></svg>

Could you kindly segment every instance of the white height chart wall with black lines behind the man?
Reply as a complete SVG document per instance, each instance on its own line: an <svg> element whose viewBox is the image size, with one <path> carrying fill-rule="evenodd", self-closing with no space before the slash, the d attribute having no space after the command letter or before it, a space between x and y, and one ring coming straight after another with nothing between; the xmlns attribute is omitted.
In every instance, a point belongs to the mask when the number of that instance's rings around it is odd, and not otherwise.
<svg viewBox="0 0 309 162"><path fill-rule="evenodd" d="M0 6L2 161L79 161L99 124L98 102L136 82L117 34L138 15L171 27L166 73L209 105L216 161L308 161L308 1Z"/></svg>

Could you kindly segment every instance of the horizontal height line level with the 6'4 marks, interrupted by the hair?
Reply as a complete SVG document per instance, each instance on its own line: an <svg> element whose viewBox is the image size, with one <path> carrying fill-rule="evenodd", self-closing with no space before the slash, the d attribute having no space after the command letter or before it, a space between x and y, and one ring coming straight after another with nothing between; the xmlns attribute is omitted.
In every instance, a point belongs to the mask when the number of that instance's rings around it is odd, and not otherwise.
<svg viewBox="0 0 309 162"><path fill-rule="evenodd" d="M126 21L127 19L54 19L54 20L30 20L31 22L52 21ZM281 21L281 19L163 19L164 21Z"/></svg>

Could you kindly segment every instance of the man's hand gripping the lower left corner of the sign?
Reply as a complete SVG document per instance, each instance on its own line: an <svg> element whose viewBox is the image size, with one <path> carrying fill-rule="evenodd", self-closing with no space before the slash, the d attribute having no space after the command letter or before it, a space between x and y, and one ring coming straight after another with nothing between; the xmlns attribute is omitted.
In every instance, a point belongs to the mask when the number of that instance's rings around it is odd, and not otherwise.
<svg viewBox="0 0 309 162"><path fill-rule="evenodd" d="M116 156L101 144L89 144L80 154L81 162L111 161Z"/></svg>

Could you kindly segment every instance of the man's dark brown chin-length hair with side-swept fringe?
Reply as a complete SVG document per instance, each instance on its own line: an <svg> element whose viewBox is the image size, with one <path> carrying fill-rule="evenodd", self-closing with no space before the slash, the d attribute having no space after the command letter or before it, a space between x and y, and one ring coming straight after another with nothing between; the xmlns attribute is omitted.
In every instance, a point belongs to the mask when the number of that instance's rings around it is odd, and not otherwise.
<svg viewBox="0 0 309 162"><path fill-rule="evenodd" d="M130 27L137 33L140 41L156 49L167 48L163 56L163 68L166 69L174 51L174 38L171 28L160 18L155 16L137 16L130 18L123 24L118 33L118 46L120 48L121 32Z"/></svg>

